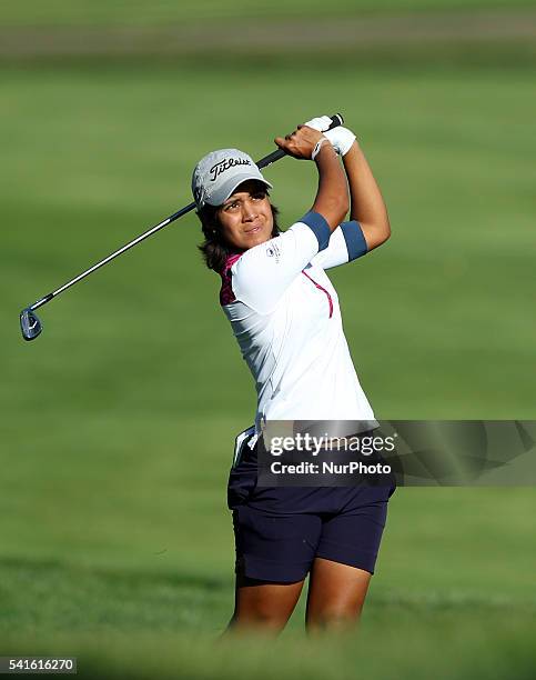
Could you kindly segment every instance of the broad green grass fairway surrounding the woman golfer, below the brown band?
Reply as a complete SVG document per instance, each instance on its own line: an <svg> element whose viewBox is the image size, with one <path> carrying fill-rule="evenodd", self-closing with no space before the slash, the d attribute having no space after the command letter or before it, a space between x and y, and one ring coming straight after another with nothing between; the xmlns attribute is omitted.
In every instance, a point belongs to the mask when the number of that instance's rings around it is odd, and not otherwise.
<svg viewBox="0 0 536 680"><path fill-rule="evenodd" d="M13 24L134 20L119 3L24 7L8 8ZM176 9L151 7L148 24ZM113 678L534 674L533 489L400 489L358 639L303 639L302 604L275 649L215 642L233 600L231 443L254 392L194 216L44 308L38 341L17 322L189 202L206 151L260 158L296 121L340 110L393 223L385 248L333 271L377 416L533 418L534 63L427 49L375 67L292 51L0 67L0 653L72 653L82 674ZM314 169L266 173L289 224Z"/></svg>

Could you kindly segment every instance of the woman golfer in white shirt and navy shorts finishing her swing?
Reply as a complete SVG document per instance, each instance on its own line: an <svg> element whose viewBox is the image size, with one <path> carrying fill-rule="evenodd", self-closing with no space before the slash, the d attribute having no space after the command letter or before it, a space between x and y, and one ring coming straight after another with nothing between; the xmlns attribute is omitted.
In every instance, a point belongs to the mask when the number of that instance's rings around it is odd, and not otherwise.
<svg viewBox="0 0 536 680"><path fill-rule="evenodd" d="M356 621L393 491L257 484L257 437L265 422L374 421L325 270L383 243L390 224L355 136L345 128L323 132L330 123L321 117L275 139L318 171L311 211L284 232L270 202L271 184L246 153L209 153L192 178L205 237L201 250L222 278L220 302L257 391L255 428L237 438L229 483L236 543L233 629L281 630L307 574L310 629ZM344 222L348 207L351 221Z"/></svg>

